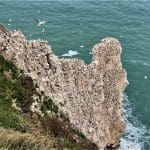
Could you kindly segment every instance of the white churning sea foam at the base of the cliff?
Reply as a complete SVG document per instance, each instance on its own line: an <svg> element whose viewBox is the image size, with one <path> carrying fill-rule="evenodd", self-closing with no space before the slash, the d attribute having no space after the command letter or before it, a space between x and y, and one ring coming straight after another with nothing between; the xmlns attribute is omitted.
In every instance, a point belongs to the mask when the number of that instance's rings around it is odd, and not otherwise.
<svg viewBox="0 0 150 150"><path fill-rule="evenodd" d="M121 139L120 150L144 150L144 144L150 141L150 130L132 115L132 105L128 100L127 95L124 99L125 107L125 135ZM132 120L133 123L131 123Z"/></svg>

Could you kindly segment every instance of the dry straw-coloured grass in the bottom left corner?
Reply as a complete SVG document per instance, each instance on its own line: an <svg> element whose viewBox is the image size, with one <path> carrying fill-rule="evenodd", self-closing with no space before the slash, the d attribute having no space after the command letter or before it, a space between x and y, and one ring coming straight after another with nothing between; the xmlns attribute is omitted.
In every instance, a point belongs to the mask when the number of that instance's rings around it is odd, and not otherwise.
<svg viewBox="0 0 150 150"><path fill-rule="evenodd" d="M7 150L50 150L57 147L54 138L30 133L20 133L0 127L0 149Z"/></svg>

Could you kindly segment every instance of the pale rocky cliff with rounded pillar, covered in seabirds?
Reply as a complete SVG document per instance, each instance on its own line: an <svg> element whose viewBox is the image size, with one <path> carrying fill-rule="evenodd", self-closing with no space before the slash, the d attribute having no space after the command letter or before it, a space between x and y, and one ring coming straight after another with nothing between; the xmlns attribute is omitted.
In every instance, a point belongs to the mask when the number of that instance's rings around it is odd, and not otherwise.
<svg viewBox="0 0 150 150"><path fill-rule="evenodd" d="M50 96L70 121L99 149L119 144L124 131L122 100L127 85L121 46L105 38L92 50L91 64L59 59L45 41L25 39L20 31L0 27L0 53L30 76L38 91ZM32 106L33 111L35 103Z"/></svg>

